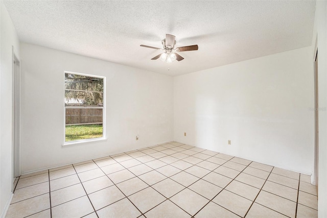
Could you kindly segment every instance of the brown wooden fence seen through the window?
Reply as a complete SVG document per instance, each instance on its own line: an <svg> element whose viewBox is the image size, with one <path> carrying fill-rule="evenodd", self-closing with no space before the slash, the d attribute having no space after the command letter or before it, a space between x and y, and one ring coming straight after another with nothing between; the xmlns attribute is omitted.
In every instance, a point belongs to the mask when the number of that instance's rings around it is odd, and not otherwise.
<svg viewBox="0 0 327 218"><path fill-rule="evenodd" d="M102 108L66 108L66 125L102 124Z"/></svg>

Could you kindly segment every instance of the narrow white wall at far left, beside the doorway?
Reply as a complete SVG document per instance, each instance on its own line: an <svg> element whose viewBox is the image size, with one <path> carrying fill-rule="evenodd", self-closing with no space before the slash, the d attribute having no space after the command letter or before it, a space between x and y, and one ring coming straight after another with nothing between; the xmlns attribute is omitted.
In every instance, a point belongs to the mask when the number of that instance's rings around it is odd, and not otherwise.
<svg viewBox="0 0 327 218"><path fill-rule="evenodd" d="M3 1L0 8L0 217L3 217L12 196L12 46L19 56L19 40Z"/></svg>

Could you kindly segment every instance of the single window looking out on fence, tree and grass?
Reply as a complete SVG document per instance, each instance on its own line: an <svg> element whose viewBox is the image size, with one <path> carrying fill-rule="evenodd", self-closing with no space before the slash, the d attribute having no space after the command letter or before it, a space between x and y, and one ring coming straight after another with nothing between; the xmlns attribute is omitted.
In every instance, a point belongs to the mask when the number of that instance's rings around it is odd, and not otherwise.
<svg viewBox="0 0 327 218"><path fill-rule="evenodd" d="M105 77L65 72L65 142L104 138Z"/></svg>

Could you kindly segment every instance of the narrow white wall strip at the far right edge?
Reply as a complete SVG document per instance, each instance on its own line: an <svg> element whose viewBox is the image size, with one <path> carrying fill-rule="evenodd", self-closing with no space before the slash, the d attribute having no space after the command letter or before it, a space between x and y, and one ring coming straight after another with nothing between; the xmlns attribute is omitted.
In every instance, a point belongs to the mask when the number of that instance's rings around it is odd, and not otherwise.
<svg viewBox="0 0 327 218"><path fill-rule="evenodd" d="M317 1L312 57L318 47L318 216L327 217L327 4Z"/></svg>

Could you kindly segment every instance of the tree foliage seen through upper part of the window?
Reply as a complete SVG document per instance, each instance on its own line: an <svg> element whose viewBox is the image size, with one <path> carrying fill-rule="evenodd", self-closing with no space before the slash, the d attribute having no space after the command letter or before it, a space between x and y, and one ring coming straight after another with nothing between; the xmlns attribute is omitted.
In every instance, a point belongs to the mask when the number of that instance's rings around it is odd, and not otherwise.
<svg viewBox="0 0 327 218"><path fill-rule="evenodd" d="M103 105L103 78L65 74L65 100L74 99L83 106Z"/></svg>

